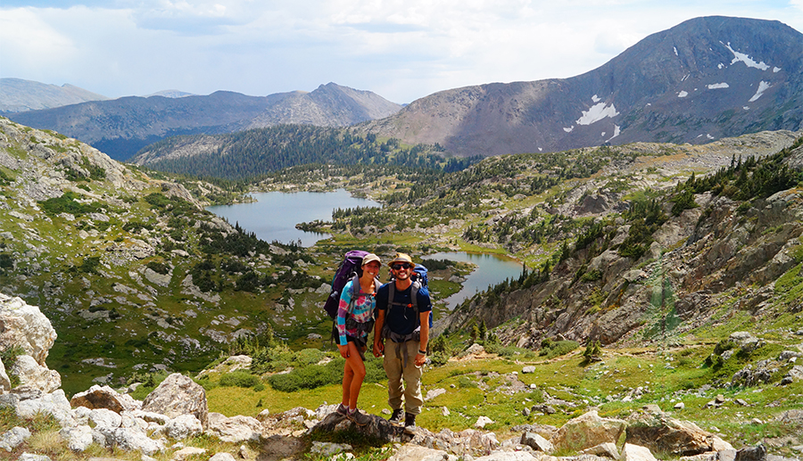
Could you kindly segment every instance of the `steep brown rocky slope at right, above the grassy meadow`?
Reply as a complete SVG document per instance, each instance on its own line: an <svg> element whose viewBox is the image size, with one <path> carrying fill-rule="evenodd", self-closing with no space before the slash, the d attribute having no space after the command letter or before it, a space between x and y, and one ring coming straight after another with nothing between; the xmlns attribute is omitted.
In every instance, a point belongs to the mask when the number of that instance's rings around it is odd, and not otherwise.
<svg viewBox="0 0 803 461"><path fill-rule="evenodd" d="M776 299L774 282L799 264L803 191L792 188L741 205L710 193L695 200L705 208L678 216L672 215L671 203L663 205L667 220L640 259L618 254L615 245L627 232L622 222L610 222L592 243L607 250L575 251L540 284L476 297L438 321L435 332L482 320L489 328L502 325L495 333L518 347L537 349L542 339L558 335L624 345L645 329L668 333L666 318L658 324L650 319L650 309L668 310L667 302L676 300L672 315L680 317L682 328L691 329L711 315L717 295L739 286L748 288L737 293L736 309L751 315L766 311ZM801 309L798 305L791 301L789 309ZM512 318L519 321L509 322ZM746 377L739 382L753 382L754 376ZM762 376L755 379L766 382Z"/></svg>

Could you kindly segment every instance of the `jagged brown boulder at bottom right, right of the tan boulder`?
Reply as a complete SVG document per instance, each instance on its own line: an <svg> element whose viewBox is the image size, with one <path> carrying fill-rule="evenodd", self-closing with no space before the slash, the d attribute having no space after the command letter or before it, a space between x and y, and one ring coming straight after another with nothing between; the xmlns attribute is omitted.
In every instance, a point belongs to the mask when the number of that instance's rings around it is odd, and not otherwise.
<svg viewBox="0 0 803 461"><path fill-rule="evenodd" d="M715 436L697 424L661 416L627 428L625 442L652 451L688 457L713 450Z"/></svg>

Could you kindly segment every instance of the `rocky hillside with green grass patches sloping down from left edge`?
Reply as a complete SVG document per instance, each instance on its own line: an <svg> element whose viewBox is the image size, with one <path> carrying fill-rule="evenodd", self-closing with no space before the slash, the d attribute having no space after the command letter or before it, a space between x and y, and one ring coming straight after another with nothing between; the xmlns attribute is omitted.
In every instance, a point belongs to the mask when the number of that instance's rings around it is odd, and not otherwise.
<svg viewBox="0 0 803 461"><path fill-rule="evenodd" d="M190 193L183 185L147 177L75 139L22 127L3 118L0 171L4 175L0 178L0 284L5 292L40 300L54 324L67 331L62 345L71 345L56 347L60 357L80 344L98 341L105 330L113 329L98 325L125 319L128 309L136 311L137 318L145 319L139 324L145 330L137 333L137 326L129 325L122 332L109 330L110 338L141 342L138 334L153 332L151 342L170 344L163 349L165 357L172 355L168 354L170 350L186 350L190 357L212 353L220 344L251 331L237 327L242 320L230 318L234 315L211 313L211 308L221 302L219 295L208 288L201 291L189 274L175 270L195 259L183 249L185 225L187 229L200 229L203 223L213 235L236 235L236 229L228 222L203 211L204 193L220 193L219 188L198 184L195 194ZM161 207L183 207L186 210L182 216L195 215L193 223L176 222L172 213L163 214L153 203L142 202L148 195ZM51 212L46 203L67 208ZM171 218L173 226L181 229L179 232L170 234L174 228L170 226ZM187 240L190 237L192 234ZM277 247L276 251L291 254ZM269 254L262 256L260 265L268 268L271 251L265 252ZM159 264L148 267L151 261ZM181 287L180 296L186 300L175 312L156 303L170 296L173 276ZM69 325L76 321L95 325L91 337L70 339L76 329ZM200 325L194 330L196 337L178 330L178 325L195 321ZM147 330L152 324L155 330ZM213 342L202 342L204 338ZM142 347L141 344L131 351L142 351ZM150 346L145 349L153 351ZM96 355L67 361L73 362L70 366L77 367L81 375L99 382L119 373L120 366L130 373L129 366L137 365L126 366L114 358ZM153 360L156 361L161 362ZM142 364L145 371L153 366L165 364Z"/></svg>

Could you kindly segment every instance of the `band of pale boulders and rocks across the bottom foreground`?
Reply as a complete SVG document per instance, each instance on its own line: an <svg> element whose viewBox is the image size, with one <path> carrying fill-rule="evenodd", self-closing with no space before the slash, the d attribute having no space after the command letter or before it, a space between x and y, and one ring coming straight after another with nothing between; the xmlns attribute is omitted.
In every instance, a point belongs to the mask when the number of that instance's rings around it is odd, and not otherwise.
<svg viewBox="0 0 803 461"><path fill-rule="evenodd" d="M168 376L144 401L97 385L68 400L58 386L53 388L48 383L34 381L17 366L24 358L33 359L31 353L46 358L53 344L53 328L37 307L19 298L0 295L0 326L4 332L0 337L0 350L22 350L12 358L11 364L12 376L21 384L10 384L8 375L3 372L4 363L0 361L0 410L10 410L22 421L53 417L61 428L58 431L60 443L78 455L92 445L99 445L140 452L144 460L164 455L177 460L192 455L211 456L217 461L295 459L305 452L325 457L345 455L344 459L348 459L351 447L314 440L316 434L322 432L357 431L382 443L396 442L390 458L396 461L430 458L634 461L655 459L651 451L656 450L685 461L785 459L766 455L762 445L737 451L716 435L695 424L676 420L657 407L645 407L644 412L630 421L600 417L591 410L560 428L529 425L518 429L520 436L500 441L493 432L482 430L484 424L493 423L484 416L477 420L477 429L433 433L419 428L414 435L404 433L402 428L379 416L371 416L370 423L363 427L355 426L336 413L335 406L326 405L315 410L298 407L277 415L264 411L258 418L227 417L210 413L203 388L179 374ZM781 417L799 418L800 415L787 412ZM186 446L185 441L202 433L230 444L229 448L211 454L207 449ZM0 434L0 449L15 453L20 459L50 459L26 451L26 440L30 436L29 428L12 427ZM620 444L623 438L625 442ZM556 451L577 451L580 455L556 457L552 455Z"/></svg>

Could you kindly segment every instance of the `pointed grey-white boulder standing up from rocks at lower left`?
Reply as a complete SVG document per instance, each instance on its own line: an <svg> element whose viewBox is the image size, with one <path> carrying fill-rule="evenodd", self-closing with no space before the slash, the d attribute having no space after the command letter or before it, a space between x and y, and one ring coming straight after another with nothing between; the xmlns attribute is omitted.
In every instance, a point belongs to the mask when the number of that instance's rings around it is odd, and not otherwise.
<svg viewBox="0 0 803 461"><path fill-rule="evenodd" d="M209 409L203 387L178 373L168 376L159 387L145 397L142 410L161 413L171 418L193 415L198 418L203 428L209 423Z"/></svg>

